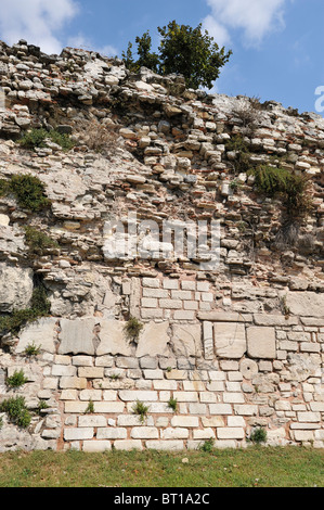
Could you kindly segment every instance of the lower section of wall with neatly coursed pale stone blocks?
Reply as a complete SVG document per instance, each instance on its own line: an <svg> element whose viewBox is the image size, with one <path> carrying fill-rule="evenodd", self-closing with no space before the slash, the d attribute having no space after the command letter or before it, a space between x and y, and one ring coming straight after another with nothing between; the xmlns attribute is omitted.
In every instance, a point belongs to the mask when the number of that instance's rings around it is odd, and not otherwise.
<svg viewBox="0 0 324 510"><path fill-rule="evenodd" d="M284 316L217 310L208 281L127 279L122 290L138 302L137 341L122 320L51 317L21 332L14 355L1 355L2 395L24 395L31 410L47 403L28 432L3 413L1 451L179 450L210 438L239 447L259 426L270 445L324 446L324 294L316 310L309 293L288 293ZM41 353L27 358L33 343ZM27 382L9 390L7 378L22 369Z"/></svg>

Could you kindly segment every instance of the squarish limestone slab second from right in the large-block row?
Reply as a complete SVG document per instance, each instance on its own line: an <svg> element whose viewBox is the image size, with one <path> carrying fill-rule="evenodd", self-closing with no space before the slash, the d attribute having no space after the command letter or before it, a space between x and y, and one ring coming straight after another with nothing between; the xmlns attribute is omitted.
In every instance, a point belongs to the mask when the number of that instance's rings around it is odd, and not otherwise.
<svg viewBox="0 0 324 510"><path fill-rule="evenodd" d="M246 352L245 326L217 322L213 327L216 354L220 358L242 358Z"/></svg>

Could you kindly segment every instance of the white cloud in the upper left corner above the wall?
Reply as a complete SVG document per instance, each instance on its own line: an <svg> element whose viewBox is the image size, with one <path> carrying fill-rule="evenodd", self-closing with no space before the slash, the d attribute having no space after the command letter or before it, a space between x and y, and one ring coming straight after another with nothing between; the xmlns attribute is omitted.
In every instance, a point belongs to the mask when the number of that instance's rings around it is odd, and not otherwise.
<svg viewBox="0 0 324 510"><path fill-rule="evenodd" d="M61 53L57 33L77 13L75 0L1 0L0 36L9 44L26 39L46 53Z"/></svg>

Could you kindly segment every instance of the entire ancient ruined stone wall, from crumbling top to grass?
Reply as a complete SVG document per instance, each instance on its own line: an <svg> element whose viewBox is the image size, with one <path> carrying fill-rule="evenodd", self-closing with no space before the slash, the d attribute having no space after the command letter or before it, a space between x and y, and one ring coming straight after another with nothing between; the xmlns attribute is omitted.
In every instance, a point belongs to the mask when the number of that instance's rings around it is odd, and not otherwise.
<svg viewBox="0 0 324 510"><path fill-rule="evenodd" d="M40 285L50 304L1 326L0 406L23 396L31 422L0 411L0 451L242 447L258 428L270 445L323 447L323 118L26 41L1 43L0 78L0 321ZM24 149L31 128L74 148ZM260 164L309 178L306 216L260 193L248 171ZM48 209L2 192L22 174L40 179ZM137 232L166 220L217 221L217 265L205 266L210 239L166 256ZM31 246L26 227L55 244Z"/></svg>

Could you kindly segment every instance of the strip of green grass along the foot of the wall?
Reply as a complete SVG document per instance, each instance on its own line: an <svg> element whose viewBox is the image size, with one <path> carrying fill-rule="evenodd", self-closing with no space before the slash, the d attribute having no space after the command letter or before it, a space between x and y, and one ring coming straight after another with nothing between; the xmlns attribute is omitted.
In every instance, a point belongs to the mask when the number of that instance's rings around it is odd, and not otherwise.
<svg viewBox="0 0 324 510"><path fill-rule="evenodd" d="M323 487L324 449L0 455L0 487Z"/></svg>

